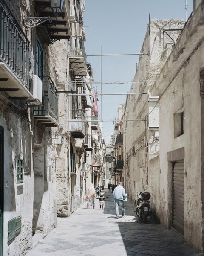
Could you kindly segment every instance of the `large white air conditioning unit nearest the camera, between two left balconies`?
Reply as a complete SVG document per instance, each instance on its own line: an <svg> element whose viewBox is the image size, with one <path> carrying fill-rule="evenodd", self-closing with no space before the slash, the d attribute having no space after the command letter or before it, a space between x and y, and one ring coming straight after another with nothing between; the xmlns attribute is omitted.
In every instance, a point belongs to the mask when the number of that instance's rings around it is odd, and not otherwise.
<svg viewBox="0 0 204 256"><path fill-rule="evenodd" d="M35 98L35 101L30 102L31 105L42 105L42 90L42 80L37 75L33 75L33 81L31 82L30 92Z"/></svg>

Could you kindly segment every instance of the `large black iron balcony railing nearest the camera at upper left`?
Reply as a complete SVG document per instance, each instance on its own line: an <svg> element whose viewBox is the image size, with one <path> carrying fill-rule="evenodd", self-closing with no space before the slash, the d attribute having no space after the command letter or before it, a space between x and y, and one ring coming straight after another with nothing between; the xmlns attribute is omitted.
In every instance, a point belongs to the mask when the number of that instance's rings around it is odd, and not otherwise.
<svg viewBox="0 0 204 256"><path fill-rule="evenodd" d="M29 41L6 3L0 0L0 61L5 63L29 90Z"/></svg>

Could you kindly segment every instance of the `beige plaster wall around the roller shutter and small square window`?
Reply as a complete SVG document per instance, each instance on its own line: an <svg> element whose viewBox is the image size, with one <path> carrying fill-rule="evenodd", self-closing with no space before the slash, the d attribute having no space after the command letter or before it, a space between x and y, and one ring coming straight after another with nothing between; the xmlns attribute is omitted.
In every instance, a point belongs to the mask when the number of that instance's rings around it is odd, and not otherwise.
<svg viewBox="0 0 204 256"><path fill-rule="evenodd" d="M184 224L185 240L197 250L202 250L201 230L201 97L199 70L204 67L204 43L192 55L187 65L181 69L160 100L160 158L161 195L165 202L161 209L162 224L168 227L171 196L167 179L167 152L184 147ZM183 84L183 86L182 86ZM174 138L173 113L184 111L184 134ZM172 217L171 217L172 218Z"/></svg>

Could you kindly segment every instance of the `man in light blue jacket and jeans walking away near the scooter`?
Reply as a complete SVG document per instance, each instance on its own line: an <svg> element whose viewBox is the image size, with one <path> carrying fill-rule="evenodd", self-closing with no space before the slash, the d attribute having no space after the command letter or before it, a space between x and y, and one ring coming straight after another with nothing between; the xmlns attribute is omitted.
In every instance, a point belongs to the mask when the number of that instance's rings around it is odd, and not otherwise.
<svg viewBox="0 0 204 256"><path fill-rule="evenodd" d="M119 219L119 206L122 209L122 217L125 216L124 199L127 197L125 189L122 187L122 182L113 191L114 202L116 204L116 219Z"/></svg>

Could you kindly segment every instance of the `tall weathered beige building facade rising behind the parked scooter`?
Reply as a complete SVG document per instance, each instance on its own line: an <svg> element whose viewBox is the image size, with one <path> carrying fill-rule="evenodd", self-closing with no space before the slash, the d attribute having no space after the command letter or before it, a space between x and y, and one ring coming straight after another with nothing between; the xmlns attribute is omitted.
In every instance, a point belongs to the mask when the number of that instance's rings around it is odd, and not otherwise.
<svg viewBox="0 0 204 256"><path fill-rule="evenodd" d="M136 192L148 190L153 216L158 221L161 199L159 105L158 97L151 95L150 88L183 25L182 20L150 20L122 118L129 120L122 122L126 191L134 203Z"/></svg>

